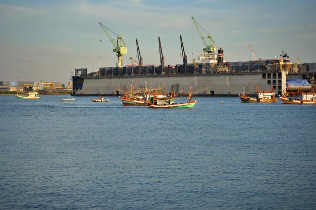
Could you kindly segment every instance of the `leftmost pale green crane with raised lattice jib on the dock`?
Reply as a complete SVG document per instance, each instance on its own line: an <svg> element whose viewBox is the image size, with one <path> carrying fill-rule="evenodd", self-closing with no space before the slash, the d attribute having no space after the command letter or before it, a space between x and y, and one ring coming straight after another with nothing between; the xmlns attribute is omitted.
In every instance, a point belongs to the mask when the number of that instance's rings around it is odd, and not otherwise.
<svg viewBox="0 0 316 210"><path fill-rule="evenodd" d="M123 61L122 61L122 55L123 54L127 54L127 47L126 44L124 42L124 39L122 37L122 35L119 35L117 33L115 33L114 31L112 31L111 29L109 29L108 27L104 26L101 22L99 22L99 24L101 25L103 31L107 34L108 38L110 39L110 41L112 42L113 46L115 47L113 49L113 52L116 52L116 55L118 56L118 62L116 63L117 67L122 67L123 66ZM115 35L117 35L117 40L115 42L115 39L113 39L111 37L111 35L109 34L109 31L111 31L112 33L114 33Z"/></svg>

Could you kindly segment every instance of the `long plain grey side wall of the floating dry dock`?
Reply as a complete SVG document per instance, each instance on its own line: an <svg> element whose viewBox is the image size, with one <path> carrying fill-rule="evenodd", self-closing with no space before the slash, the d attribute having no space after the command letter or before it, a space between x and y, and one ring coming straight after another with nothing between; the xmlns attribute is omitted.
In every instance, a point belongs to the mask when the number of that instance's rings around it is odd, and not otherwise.
<svg viewBox="0 0 316 210"><path fill-rule="evenodd" d="M133 77L73 77L73 96L118 96L118 89L125 89L136 80L140 88L166 86L169 91L184 93L190 87L205 89L201 96L238 96L244 84L251 81L261 90L275 84L275 93L282 95L286 89L286 74L279 73L243 73L243 74L200 74L167 76L133 76Z"/></svg>

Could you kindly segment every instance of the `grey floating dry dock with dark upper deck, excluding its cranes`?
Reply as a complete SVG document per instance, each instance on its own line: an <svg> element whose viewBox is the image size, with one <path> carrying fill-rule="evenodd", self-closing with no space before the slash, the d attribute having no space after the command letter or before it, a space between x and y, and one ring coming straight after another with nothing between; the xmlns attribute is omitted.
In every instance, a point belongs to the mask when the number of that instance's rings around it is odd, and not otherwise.
<svg viewBox="0 0 316 210"><path fill-rule="evenodd" d="M297 66L297 64L296 64ZM292 66L294 69L296 66ZM165 85L167 90L179 92L194 89L204 89L204 96L238 96L249 81L260 90L275 90L276 95L284 94L286 81L289 79L315 78L315 72L286 71L278 62L270 60L254 62L230 62L229 71L218 71L217 66L204 64L187 64L175 66L124 66L103 67L96 73L87 74L86 68L76 69L73 80L73 96L116 96L136 80L136 86L144 88ZM314 66L312 63L310 66ZM300 73L297 73L300 72Z"/></svg>

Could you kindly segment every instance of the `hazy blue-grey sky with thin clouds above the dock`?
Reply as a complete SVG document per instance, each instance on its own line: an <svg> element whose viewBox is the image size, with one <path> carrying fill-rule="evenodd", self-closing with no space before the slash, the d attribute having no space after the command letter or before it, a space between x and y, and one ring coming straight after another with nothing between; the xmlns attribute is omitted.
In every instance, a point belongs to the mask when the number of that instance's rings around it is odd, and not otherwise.
<svg viewBox="0 0 316 210"><path fill-rule="evenodd" d="M227 61L254 59L250 45L262 59L284 51L292 62L316 62L314 0L0 0L0 81L67 85L75 68L96 72L99 59L101 67L115 66L98 22L123 36L124 66L137 60L136 38L143 63L159 64L159 36L166 65L182 63L180 35L192 62L204 44L191 16Z"/></svg>

